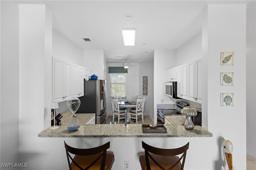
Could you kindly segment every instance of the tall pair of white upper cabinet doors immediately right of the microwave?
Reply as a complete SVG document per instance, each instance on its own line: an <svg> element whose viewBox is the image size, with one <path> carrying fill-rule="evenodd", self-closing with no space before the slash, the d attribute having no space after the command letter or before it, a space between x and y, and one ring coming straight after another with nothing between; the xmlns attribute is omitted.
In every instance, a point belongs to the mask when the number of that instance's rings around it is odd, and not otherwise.
<svg viewBox="0 0 256 170"><path fill-rule="evenodd" d="M177 67L177 94L182 99L188 99L188 63Z"/></svg>

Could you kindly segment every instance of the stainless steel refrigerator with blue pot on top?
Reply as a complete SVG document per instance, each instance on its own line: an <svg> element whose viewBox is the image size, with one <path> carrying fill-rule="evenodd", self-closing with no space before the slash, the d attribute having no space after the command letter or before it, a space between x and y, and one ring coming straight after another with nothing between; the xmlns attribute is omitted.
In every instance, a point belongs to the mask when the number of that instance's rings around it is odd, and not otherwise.
<svg viewBox="0 0 256 170"><path fill-rule="evenodd" d="M95 113L96 124L106 121L105 80L84 80L84 96L78 97L81 105L76 113Z"/></svg>

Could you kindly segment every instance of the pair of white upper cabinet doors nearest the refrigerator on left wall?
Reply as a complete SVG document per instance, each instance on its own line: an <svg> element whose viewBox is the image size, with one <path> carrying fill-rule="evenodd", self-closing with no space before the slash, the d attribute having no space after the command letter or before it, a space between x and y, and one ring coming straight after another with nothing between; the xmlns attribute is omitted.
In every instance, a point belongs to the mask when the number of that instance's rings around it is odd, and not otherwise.
<svg viewBox="0 0 256 170"><path fill-rule="evenodd" d="M84 67L72 65L72 97L81 97L84 95Z"/></svg>

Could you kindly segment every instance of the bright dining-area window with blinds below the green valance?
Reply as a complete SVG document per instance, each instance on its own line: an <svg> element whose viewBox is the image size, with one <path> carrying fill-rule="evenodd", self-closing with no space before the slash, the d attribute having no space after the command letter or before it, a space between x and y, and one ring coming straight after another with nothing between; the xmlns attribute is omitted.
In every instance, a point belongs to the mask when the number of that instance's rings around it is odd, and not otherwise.
<svg viewBox="0 0 256 170"><path fill-rule="evenodd" d="M127 73L110 73L111 97L126 97Z"/></svg>

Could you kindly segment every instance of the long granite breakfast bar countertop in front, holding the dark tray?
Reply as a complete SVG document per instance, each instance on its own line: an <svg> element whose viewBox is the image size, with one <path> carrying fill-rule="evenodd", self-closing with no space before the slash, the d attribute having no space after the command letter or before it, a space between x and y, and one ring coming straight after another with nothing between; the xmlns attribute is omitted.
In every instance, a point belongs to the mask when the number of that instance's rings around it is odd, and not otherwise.
<svg viewBox="0 0 256 170"><path fill-rule="evenodd" d="M212 133L203 127L195 126L187 130L183 126L164 125L166 133L143 133L142 125L84 125L70 131L66 126L57 129L47 128L38 137L212 137Z"/></svg>

